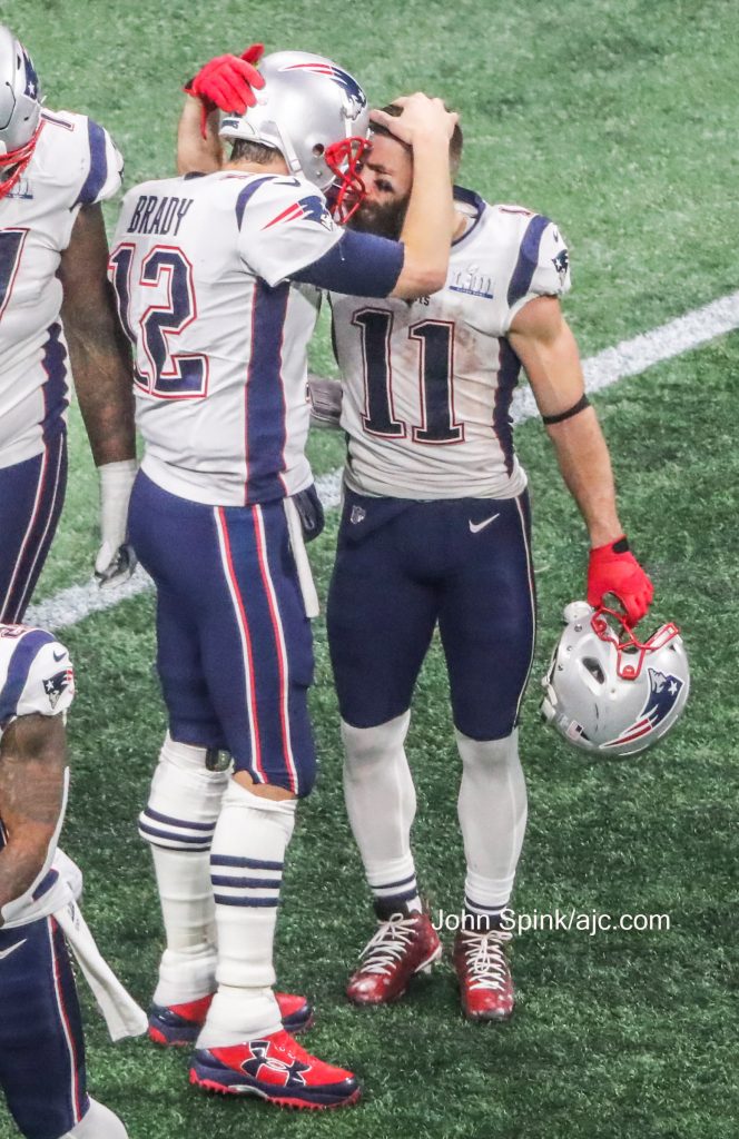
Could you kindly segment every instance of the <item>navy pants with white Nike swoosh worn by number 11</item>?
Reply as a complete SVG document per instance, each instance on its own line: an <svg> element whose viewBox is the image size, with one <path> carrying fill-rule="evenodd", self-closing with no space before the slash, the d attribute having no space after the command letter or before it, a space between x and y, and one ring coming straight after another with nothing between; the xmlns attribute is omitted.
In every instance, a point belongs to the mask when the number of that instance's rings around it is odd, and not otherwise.
<svg viewBox="0 0 739 1139"><path fill-rule="evenodd" d="M411 706L436 626L454 723L502 739L534 655L528 495L432 502L346 494L328 593L342 719L385 723Z"/></svg>

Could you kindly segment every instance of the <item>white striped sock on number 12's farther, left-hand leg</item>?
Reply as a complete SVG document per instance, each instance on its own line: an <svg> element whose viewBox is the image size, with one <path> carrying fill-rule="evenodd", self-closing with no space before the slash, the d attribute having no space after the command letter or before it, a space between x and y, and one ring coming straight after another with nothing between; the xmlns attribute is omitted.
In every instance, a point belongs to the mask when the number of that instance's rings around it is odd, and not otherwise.
<svg viewBox="0 0 739 1139"><path fill-rule="evenodd" d="M139 834L152 846L167 934L157 1005L197 1000L216 988L210 846L229 777L209 771L206 754L168 734L139 816Z"/></svg>

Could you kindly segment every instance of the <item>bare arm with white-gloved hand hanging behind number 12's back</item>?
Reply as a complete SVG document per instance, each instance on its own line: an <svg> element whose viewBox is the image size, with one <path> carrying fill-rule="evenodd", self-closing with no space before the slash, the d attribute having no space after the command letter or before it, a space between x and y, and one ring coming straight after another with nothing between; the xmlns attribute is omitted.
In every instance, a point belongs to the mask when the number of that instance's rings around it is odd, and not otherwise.
<svg viewBox="0 0 739 1139"><path fill-rule="evenodd" d="M100 207L83 206L62 255L62 320L74 387L98 467L136 456L131 351L106 279L107 252Z"/></svg>

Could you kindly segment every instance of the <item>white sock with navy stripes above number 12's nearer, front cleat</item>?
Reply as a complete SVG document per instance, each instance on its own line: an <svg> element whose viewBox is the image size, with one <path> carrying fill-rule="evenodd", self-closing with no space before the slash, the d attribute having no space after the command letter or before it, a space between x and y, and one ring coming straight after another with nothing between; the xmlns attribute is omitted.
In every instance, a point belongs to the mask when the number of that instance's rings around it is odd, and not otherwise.
<svg viewBox="0 0 739 1139"><path fill-rule="evenodd" d="M271 991L273 945L295 806L297 800L263 798L229 780L211 851L218 992L198 1048L224 1048L282 1027Z"/></svg>

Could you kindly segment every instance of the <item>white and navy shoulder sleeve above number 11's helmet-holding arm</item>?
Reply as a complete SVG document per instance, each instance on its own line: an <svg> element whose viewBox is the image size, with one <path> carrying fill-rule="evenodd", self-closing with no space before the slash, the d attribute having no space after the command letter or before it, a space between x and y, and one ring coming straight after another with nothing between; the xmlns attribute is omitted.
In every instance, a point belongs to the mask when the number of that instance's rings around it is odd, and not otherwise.
<svg viewBox="0 0 739 1139"><path fill-rule="evenodd" d="M522 206L495 206L504 243L511 243L507 303L517 308L531 296L561 296L570 287L569 253L559 227L545 214Z"/></svg>

